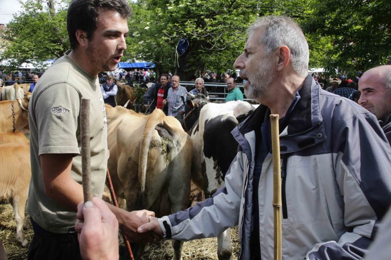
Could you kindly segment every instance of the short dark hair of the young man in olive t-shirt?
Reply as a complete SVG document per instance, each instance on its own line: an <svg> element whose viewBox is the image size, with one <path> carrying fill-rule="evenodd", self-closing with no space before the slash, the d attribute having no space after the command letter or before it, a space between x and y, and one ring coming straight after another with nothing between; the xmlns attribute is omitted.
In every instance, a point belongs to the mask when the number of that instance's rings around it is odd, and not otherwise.
<svg viewBox="0 0 391 260"><path fill-rule="evenodd" d="M66 29L71 49L78 45L77 30L86 32L87 38L91 38L97 27L99 9L118 12L122 18L131 16L131 7L126 0L73 0L66 17Z"/></svg>

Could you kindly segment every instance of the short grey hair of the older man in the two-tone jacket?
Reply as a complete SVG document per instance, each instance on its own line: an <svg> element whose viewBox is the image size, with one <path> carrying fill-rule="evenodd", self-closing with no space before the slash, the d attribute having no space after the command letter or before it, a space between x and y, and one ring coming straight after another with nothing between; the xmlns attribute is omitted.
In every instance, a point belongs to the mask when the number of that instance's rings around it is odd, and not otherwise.
<svg viewBox="0 0 391 260"><path fill-rule="evenodd" d="M264 27L265 31L260 42L266 52L270 53L281 46L287 46L293 70L299 76L306 77L309 51L307 40L300 26L286 16L265 16L250 25L247 29L247 37L250 37L255 30L261 27Z"/></svg>

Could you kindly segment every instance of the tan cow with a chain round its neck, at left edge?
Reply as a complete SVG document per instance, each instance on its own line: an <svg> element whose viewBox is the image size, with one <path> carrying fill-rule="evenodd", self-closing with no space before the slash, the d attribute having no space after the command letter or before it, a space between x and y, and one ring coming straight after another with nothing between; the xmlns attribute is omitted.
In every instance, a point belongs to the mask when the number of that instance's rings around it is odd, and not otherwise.
<svg viewBox="0 0 391 260"><path fill-rule="evenodd" d="M0 133L28 133L28 100L0 101ZM15 126L15 130L14 130Z"/></svg>

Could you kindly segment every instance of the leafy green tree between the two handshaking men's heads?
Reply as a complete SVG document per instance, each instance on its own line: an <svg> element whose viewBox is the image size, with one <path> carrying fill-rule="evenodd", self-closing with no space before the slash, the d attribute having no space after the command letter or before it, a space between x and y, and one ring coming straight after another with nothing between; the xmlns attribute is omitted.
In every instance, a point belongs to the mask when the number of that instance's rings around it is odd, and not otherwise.
<svg viewBox="0 0 391 260"><path fill-rule="evenodd" d="M256 0L140 0L133 5L131 54L187 80L205 70L232 69L256 5ZM176 53L180 39L189 42L182 56Z"/></svg>

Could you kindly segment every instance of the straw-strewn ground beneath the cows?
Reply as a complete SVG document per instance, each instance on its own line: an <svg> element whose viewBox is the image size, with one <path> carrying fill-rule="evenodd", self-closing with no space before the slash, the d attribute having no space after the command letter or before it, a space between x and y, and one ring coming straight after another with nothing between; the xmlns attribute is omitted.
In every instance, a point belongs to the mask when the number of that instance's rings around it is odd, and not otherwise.
<svg viewBox="0 0 391 260"><path fill-rule="evenodd" d="M31 241L33 231L31 223L26 214L27 226L24 229L26 239ZM9 260L24 260L27 259L27 248L20 246L16 240L16 223L11 204L0 203L0 239L5 247L5 252ZM238 228L234 228L231 232L231 241L233 246L233 258L239 256L239 236ZM120 246L120 251L124 251L125 247ZM123 254L121 254L123 255ZM146 250L142 256L143 260L169 260L174 255L171 246L171 240L166 240L161 243L150 244L146 246ZM217 260L217 239L202 239L188 241L183 244L182 257L184 260ZM126 259L126 257L121 257Z"/></svg>

